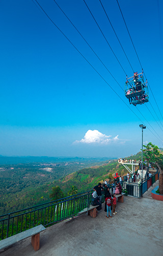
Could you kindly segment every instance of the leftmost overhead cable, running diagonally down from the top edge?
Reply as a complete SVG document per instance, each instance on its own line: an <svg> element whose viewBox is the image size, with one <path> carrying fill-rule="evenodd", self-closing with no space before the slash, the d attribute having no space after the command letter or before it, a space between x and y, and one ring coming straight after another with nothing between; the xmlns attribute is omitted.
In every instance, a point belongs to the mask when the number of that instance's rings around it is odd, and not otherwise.
<svg viewBox="0 0 163 256"><path fill-rule="evenodd" d="M86 59L86 57L73 45L73 43L70 41L70 39L63 33L63 31L53 22L53 20L48 16L48 14L44 11L44 9L40 6L40 4L35 0L36 3L39 5L39 7L42 9L42 11L45 13L45 15L48 17L48 19L51 21L53 25L66 37L66 39L70 42L70 44L75 48L75 50L89 63L89 65L94 69L94 71L103 79L103 81L115 92L115 94L123 101L123 103L127 106L127 108L135 115L137 118L144 123L137 114L135 114L129 106L126 104L126 102L118 95L118 93L110 86L110 84L100 75L100 73L92 66L92 64ZM141 113L141 112L140 112ZM148 121L147 121L148 122ZM149 128L148 128L149 129ZM153 128L152 128L153 129ZM154 129L153 129L154 130ZM149 131L153 134L153 132L149 129ZM155 136L155 134L153 134ZM156 137L156 136L155 136ZM157 137L156 137L157 138ZM158 138L157 138L158 139ZM159 140L159 139L158 139ZM161 141L162 143L162 141Z"/></svg>

